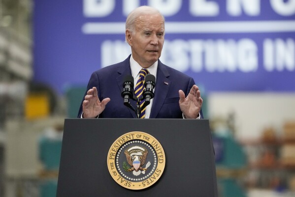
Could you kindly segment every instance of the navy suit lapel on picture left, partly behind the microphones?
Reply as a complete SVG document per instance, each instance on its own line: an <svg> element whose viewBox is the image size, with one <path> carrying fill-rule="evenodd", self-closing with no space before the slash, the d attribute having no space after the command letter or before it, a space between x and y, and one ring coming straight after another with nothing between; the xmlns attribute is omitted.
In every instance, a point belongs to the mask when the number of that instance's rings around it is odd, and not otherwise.
<svg viewBox="0 0 295 197"><path fill-rule="evenodd" d="M131 55L130 55L131 56ZM124 60L124 62L122 62L122 66L120 67L120 69L118 70L118 74L119 76L116 78L117 79L117 84L121 90L121 92L123 91L123 81L124 81L124 78L125 76L127 75L131 75L131 68L130 68L130 56ZM133 101L132 99L130 99L130 104L133 106L133 107L136 107L136 102ZM123 105L123 102L122 102L122 105ZM126 107L127 108L127 107ZM136 113L133 112L130 108L128 108L132 117L133 118L136 118Z"/></svg>

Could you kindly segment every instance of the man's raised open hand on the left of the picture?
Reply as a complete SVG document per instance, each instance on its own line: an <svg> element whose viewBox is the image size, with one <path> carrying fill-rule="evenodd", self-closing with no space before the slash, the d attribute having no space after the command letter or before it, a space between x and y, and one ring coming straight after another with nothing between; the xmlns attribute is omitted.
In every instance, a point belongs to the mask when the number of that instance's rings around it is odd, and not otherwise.
<svg viewBox="0 0 295 197"><path fill-rule="evenodd" d="M110 98L105 98L101 102L98 99L98 90L96 87L89 89L85 100L83 101L83 118L95 118L101 114L110 101Z"/></svg>

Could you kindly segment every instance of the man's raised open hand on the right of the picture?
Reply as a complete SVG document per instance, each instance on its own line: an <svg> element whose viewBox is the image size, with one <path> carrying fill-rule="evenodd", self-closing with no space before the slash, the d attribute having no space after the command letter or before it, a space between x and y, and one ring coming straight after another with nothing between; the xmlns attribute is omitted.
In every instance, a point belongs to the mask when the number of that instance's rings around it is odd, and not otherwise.
<svg viewBox="0 0 295 197"><path fill-rule="evenodd" d="M182 90L179 90L179 107L186 118L197 118L202 107L203 99L197 85L193 85L189 95L185 98Z"/></svg>

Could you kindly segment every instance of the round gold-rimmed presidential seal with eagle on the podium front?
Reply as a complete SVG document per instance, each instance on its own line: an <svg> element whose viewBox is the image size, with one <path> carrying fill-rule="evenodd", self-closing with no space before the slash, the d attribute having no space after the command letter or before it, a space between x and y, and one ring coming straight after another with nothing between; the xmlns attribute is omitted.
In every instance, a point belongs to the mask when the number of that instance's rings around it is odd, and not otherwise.
<svg viewBox="0 0 295 197"><path fill-rule="evenodd" d="M107 166L119 185L131 190L142 190L160 179L164 172L165 154L153 136L132 131L112 144Z"/></svg>

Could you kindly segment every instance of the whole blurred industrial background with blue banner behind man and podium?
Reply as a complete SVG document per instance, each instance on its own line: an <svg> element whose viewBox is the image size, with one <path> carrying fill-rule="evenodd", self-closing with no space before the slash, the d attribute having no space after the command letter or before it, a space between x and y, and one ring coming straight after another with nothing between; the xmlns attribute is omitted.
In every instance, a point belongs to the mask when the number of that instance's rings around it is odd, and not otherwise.
<svg viewBox="0 0 295 197"><path fill-rule="evenodd" d="M294 197L295 0L0 0L0 197L55 196L64 118L144 4L161 61L201 89L219 196Z"/></svg>

